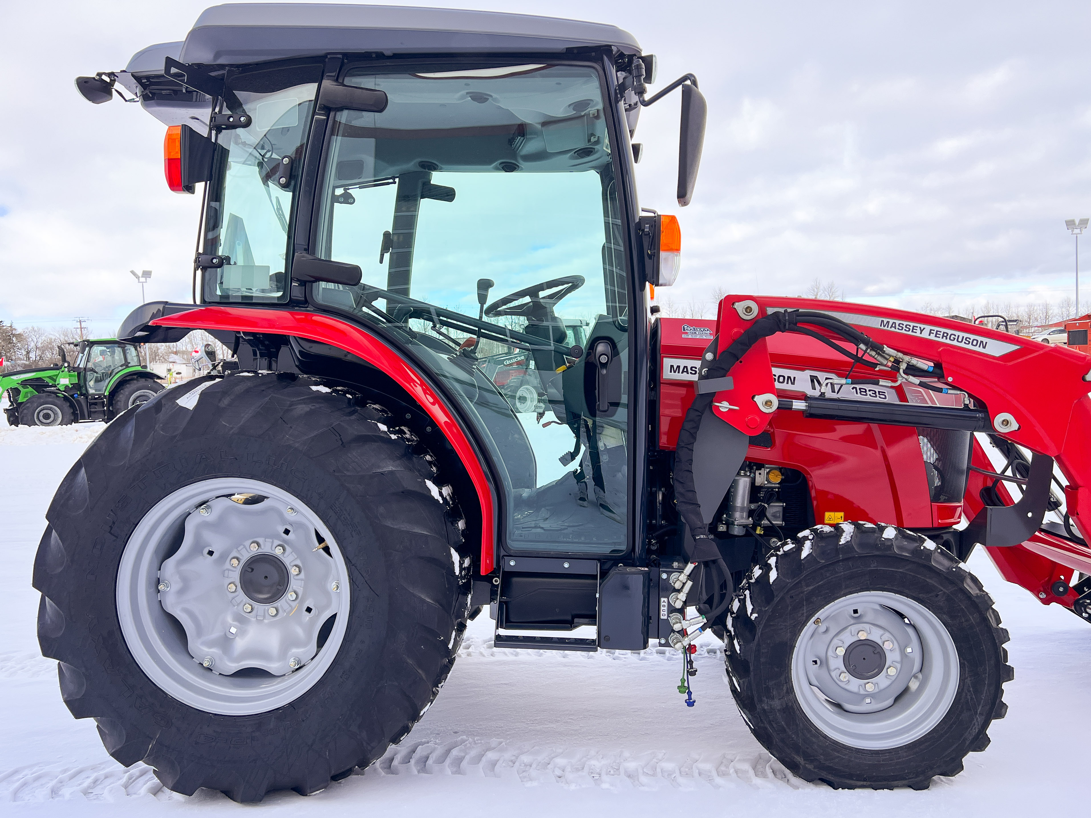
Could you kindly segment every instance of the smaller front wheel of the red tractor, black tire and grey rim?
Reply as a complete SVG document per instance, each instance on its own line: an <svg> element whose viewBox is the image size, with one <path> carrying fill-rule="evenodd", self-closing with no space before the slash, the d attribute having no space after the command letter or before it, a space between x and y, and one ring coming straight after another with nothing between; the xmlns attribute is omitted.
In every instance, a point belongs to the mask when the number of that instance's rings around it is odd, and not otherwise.
<svg viewBox="0 0 1091 818"><path fill-rule="evenodd" d="M728 678L754 736L834 787L925 789L988 745L1014 672L981 582L892 526L817 526L731 606Z"/></svg>

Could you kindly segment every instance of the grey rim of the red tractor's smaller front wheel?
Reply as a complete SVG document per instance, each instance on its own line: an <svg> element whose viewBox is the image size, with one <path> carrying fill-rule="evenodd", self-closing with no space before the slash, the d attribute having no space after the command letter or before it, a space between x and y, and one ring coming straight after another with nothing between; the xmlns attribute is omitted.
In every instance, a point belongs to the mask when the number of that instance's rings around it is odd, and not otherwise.
<svg viewBox="0 0 1091 818"><path fill-rule="evenodd" d="M958 650L924 605L885 591L842 597L812 615L792 653L800 707L830 738L860 749L916 741L958 691Z"/></svg>

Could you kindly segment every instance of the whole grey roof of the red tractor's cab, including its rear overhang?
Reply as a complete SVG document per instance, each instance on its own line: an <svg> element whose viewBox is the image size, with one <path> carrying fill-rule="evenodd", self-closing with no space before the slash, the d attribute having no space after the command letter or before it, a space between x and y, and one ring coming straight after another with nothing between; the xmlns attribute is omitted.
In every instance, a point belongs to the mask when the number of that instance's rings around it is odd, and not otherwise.
<svg viewBox="0 0 1091 818"><path fill-rule="evenodd" d="M564 53L601 46L640 53L636 38L616 26L559 17L396 5L226 3L205 10L184 40L137 51L117 81L160 122L207 130L212 100L168 77L166 58L215 73L217 67L327 53Z"/></svg>

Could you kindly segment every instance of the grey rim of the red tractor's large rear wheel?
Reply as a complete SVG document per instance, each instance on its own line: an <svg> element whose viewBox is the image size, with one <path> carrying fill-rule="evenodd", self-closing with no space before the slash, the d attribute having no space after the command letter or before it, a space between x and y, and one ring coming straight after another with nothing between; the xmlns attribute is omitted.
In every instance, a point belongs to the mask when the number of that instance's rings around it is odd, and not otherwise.
<svg viewBox="0 0 1091 818"><path fill-rule="evenodd" d="M348 569L299 498L217 478L172 492L137 524L116 597L152 682L199 710L249 715L293 701L329 669L347 627Z"/></svg>

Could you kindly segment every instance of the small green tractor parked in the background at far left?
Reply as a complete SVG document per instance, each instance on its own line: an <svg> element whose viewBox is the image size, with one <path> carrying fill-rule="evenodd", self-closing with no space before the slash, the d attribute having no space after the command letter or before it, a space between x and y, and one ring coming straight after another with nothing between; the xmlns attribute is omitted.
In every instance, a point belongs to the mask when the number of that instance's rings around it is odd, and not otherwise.
<svg viewBox="0 0 1091 818"><path fill-rule="evenodd" d="M69 365L65 346L76 347L75 365ZM10 425L109 421L164 389L159 376L141 363L134 344L99 338L62 345L57 351L60 366L0 375L0 394L8 396L4 413Z"/></svg>

